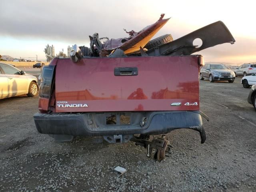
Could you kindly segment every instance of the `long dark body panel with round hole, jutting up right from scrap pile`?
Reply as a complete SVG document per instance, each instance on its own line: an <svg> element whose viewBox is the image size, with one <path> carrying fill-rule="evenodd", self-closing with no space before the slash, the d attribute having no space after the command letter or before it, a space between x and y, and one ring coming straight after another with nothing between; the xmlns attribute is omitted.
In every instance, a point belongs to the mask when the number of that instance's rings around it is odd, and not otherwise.
<svg viewBox="0 0 256 192"><path fill-rule="evenodd" d="M195 39L202 40L202 46L194 45ZM190 34L178 38L170 43L158 46L160 55L190 55L194 52L204 50L209 47L223 43L234 44L236 40L222 21L214 22L200 28ZM146 52L148 56L155 56L152 48Z"/></svg>

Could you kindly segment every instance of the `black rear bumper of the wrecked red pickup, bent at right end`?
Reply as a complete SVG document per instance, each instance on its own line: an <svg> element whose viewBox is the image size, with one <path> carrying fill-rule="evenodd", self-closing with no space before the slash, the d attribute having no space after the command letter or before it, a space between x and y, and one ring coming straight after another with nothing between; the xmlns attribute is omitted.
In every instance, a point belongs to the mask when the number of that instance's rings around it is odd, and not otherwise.
<svg viewBox="0 0 256 192"><path fill-rule="evenodd" d="M120 112L122 114L123 112ZM126 112L127 113L127 112ZM188 128L200 132L201 142L206 135L202 126L200 111L128 112L131 122L128 125L106 125L109 112L101 113L52 113L34 114L38 132L73 136L108 136L133 134L165 134L172 130ZM141 120L147 117L144 126Z"/></svg>

